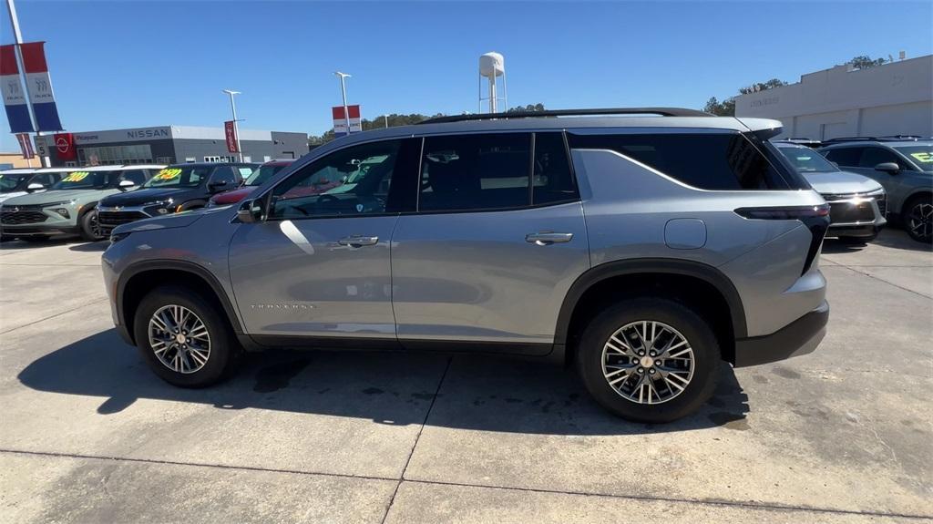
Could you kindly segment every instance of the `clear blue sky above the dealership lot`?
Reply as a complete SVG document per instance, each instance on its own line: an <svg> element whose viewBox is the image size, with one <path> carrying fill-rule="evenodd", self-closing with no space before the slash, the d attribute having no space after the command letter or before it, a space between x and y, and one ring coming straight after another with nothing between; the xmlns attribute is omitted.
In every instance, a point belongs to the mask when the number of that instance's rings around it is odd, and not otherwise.
<svg viewBox="0 0 933 524"><path fill-rule="evenodd" d="M348 79L364 117L477 106L477 62L506 57L509 105L702 107L855 55L933 52L930 2L320 3L19 0L46 40L63 125L330 128ZM6 9L0 40L12 41ZM8 130L6 116L0 117ZM16 149L4 132L3 149Z"/></svg>

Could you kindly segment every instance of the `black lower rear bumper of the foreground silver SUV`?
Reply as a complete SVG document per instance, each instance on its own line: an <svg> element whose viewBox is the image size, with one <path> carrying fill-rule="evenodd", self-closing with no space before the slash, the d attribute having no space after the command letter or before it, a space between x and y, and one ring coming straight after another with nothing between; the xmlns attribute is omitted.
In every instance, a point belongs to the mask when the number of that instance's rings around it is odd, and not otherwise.
<svg viewBox="0 0 933 524"><path fill-rule="evenodd" d="M771 335L735 341L735 367L768 364L814 352L826 337L829 302L787 324Z"/></svg>

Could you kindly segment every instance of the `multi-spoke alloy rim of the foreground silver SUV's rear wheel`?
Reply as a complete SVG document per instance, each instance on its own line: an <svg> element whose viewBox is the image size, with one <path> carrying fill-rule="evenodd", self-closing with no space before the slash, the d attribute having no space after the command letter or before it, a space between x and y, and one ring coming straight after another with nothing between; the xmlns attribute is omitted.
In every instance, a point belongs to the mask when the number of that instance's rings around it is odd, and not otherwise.
<svg viewBox="0 0 933 524"><path fill-rule="evenodd" d="M695 367L693 349L674 327L642 320L625 324L603 346L603 377L635 404L662 404L687 389Z"/></svg>

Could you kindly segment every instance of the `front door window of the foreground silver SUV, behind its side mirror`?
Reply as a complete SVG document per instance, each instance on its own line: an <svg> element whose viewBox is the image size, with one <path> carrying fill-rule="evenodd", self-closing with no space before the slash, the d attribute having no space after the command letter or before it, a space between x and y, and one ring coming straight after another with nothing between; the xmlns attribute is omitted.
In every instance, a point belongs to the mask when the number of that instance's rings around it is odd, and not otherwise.
<svg viewBox="0 0 933 524"><path fill-rule="evenodd" d="M272 190L270 218L383 214L401 141L355 145L314 160Z"/></svg>

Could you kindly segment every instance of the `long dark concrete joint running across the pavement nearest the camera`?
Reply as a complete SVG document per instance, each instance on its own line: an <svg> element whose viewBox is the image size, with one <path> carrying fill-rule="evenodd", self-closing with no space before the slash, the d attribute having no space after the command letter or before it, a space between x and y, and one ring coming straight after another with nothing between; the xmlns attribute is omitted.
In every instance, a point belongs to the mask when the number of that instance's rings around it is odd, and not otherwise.
<svg viewBox="0 0 933 524"><path fill-rule="evenodd" d="M450 363L448 363L448 366ZM446 374L446 370L445 370ZM426 419L425 419L426 420ZM289 469L279 469L279 468L267 468L267 467L258 467L258 466L247 466L247 465L230 465L230 464L214 464L214 463L202 463L202 462L179 462L179 461L165 461L157 459L141 459L141 458L129 458L129 457L108 457L108 456L97 456L97 455L86 455L79 453L63 453L63 452L53 452L53 451L27 451L22 449L7 449L0 448L0 454L7 453L11 455L26 455L32 457L47 457L47 458L59 458L59 459L78 459L78 460L92 460L92 461L113 461L113 462L134 462L134 463L143 463L143 464L158 464L158 465L171 465L171 466L188 466L188 467L205 467L205 468L215 468L222 470L237 470L237 471L250 471L250 472L260 472L260 473L278 473L283 475L301 475L301 476L327 476L333 478L351 478L358 480L377 480L377 481L395 481L397 482L396 492L398 490L398 485L402 481L409 482L411 484L422 484L425 486L447 486L455 488L480 488L483 490L506 490L506 491L520 491L525 493L542 493L542 494L554 494L554 495L579 495L584 497L603 497L607 499L619 499L619 500L629 500L629 501L638 501L638 502L662 502L662 503L685 503L685 504L702 504L702 505L714 505L714 506L726 506L726 507L736 507L736 508L745 508L745 509L759 509L765 511L785 511L785 512L811 512L811 513L827 513L834 515L858 515L866 517L898 517L898 518L911 518L917 520L929 520L933 518L933 515L916 515L909 513L894 513L894 512L881 512L881 511L857 511L857 510L848 510L848 509L837 509L837 508L827 508L827 507L815 507L807 505L789 505L781 503L754 503L754 502L744 502L744 501L728 501L722 499L678 499L674 497L651 497L645 495L618 495L618 494L608 494L608 493L592 493L587 491L574 491L574 490L546 490L540 488L522 488L515 486L494 486L489 484L468 484L465 482L449 482L443 480L416 480L410 478L404 478L404 472L402 479L392 477L392 476L366 476L366 475L354 475L354 474L342 474L342 473L324 473L324 472L311 472L311 471L300 471L300 470L289 470ZM411 456L409 457L411 460ZM393 493L393 499L395 498L395 493ZM391 506L391 503L390 503ZM388 511L386 511L386 516ZM383 516L383 519L385 516ZM384 520L383 520L384 521Z"/></svg>

